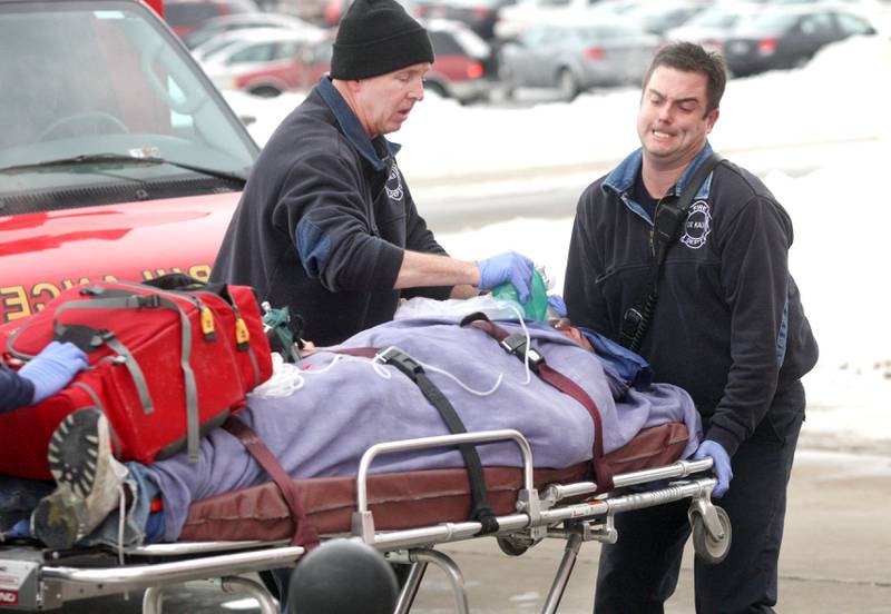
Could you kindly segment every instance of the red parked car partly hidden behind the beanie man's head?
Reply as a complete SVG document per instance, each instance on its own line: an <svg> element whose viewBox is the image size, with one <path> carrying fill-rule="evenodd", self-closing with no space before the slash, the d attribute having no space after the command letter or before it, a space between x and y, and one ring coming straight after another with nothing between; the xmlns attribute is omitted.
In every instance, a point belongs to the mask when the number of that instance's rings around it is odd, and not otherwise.
<svg viewBox="0 0 891 614"><path fill-rule="evenodd" d="M424 78L424 88L462 103L487 98L491 89L490 47L463 23L444 19L422 20L422 23L435 55ZM333 43L332 33L306 46L294 63L293 79L297 89L310 89L331 70Z"/></svg>

